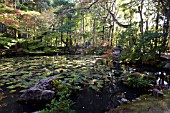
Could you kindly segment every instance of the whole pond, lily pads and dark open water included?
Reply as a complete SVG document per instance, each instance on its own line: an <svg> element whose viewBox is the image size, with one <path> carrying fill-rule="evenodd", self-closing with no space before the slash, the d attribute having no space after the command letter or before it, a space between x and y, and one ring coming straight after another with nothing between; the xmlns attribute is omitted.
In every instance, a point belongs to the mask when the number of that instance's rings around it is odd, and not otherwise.
<svg viewBox="0 0 170 113"><path fill-rule="evenodd" d="M116 80L122 73L135 69L121 65L119 69L95 64L100 56L36 56L0 59L0 112L35 112L41 108L17 103L19 96L38 81L60 76L61 80L74 78L79 92L72 96L77 113L104 113L120 105L118 96L128 100L144 92L130 89ZM61 74L62 73L62 74ZM70 76L70 77L68 77ZM114 78L114 79L113 79Z"/></svg>

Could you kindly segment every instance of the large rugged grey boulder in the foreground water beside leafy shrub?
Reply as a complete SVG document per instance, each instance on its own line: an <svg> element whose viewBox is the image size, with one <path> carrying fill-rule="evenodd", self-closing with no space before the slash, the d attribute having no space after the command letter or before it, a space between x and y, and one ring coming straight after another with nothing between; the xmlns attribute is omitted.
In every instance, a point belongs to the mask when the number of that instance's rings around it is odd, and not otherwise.
<svg viewBox="0 0 170 113"><path fill-rule="evenodd" d="M35 86L24 92L18 102L32 104L51 101L55 97L56 86L52 82L54 79L57 78L49 77L40 80Z"/></svg>

